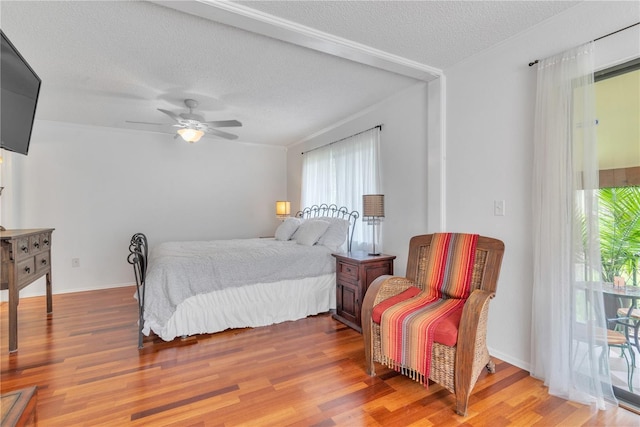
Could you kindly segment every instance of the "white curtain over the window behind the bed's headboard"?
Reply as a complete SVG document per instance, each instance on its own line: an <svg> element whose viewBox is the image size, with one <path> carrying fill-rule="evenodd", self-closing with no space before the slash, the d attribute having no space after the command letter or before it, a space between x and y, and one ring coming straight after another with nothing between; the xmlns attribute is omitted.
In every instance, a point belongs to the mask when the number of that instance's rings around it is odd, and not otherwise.
<svg viewBox="0 0 640 427"><path fill-rule="evenodd" d="M302 207L322 203L360 212L352 250L369 249L371 231L362 225L362 196L379 194L380 128L308 151L302 161ZM381 244L378 238L377 244Z"/></svg>

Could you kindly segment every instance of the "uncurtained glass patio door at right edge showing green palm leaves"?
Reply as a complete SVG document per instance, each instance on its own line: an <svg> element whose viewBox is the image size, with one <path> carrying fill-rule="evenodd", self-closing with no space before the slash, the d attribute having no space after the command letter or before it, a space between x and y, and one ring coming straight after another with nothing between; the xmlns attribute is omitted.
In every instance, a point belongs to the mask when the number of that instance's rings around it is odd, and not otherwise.
<svg viewBox="0 0 640 427"><path fill-rule="evenodd" d="M624 281L640 286L640 59L595 74L599 164L598 227L602 275L605 282ZM633 300L635 301L635 300ZM605 297L607 318L616 318L618 308L629 299ZM637 303L636 303L637 304ZM632 320L633 323L640 320ZM634 343L633 328L628 332ZM640 349L631 346L635 360ZM619 349L609 357L614 392L621 401L640 406L640 380L627 383L630 366ZM633 392L631 392L631 388Z"/></svg>

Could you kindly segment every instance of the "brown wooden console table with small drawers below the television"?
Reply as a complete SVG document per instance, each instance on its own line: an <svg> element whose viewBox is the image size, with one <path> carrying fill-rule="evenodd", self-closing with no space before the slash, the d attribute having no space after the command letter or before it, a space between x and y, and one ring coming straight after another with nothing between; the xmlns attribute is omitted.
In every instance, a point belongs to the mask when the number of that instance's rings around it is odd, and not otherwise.
<svg viewBox="0 0 640 427"><path fill-rule="evenodd" d="M47 278L47 314L51 297L51 234L53 228L0 231L2 270L0 289L9 290L9 352L18 350L18 303L20 290L36 279Z"/></svg>

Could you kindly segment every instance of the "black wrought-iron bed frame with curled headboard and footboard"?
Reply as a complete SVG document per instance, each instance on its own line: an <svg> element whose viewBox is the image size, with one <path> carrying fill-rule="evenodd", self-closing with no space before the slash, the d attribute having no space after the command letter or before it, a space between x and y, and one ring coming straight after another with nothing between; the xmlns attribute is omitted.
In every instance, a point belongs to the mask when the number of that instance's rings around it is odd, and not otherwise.
<svg viewBox="0 0 640 427"><path fill-rule="evenodd" d="M337 205L313 205L304 208L296 213L296 218L342 218L349 221L349 230L347 231L347 250L351 252L351 241L353 240L353 230L355 229L356 220L360 217L358 211L349 211L346 207L339 208ZM147 259L149 255L149 245L147 236L143 233L136 233L131 237L129 243L129 255L127 262L133 266L133 274L136 278L136 295L138 298L138 349L143 348L144 327L144 295L145 295L145 278L147 276Z"/></svg>

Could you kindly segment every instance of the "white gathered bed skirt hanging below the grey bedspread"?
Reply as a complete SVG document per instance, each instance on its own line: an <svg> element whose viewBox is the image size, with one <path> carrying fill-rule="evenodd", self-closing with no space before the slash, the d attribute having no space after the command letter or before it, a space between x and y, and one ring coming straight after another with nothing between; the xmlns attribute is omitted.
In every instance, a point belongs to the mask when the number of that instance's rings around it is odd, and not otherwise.
<svg viewBox="0 0 640 427"><path fill-rule="evenodd" d="M336 308L335 273L257 283L192 296L176 307L165 326L145 321L143 333L160 338L210 334L231 328L267 326Z"/></svg>

